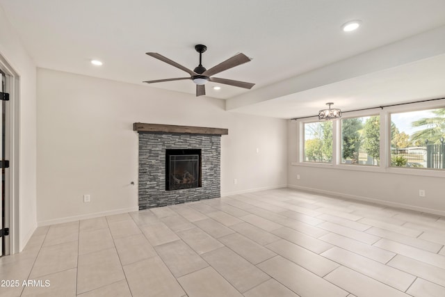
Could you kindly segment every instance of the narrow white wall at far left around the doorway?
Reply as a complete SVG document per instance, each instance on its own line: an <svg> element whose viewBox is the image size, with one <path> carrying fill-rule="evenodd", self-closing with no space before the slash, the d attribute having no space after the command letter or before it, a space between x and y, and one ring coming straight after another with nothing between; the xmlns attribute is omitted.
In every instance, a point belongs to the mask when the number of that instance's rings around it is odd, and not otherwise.
<svg viewBox="0 0 445 297"><path fill-rule="evenodd" d="M35 63L26 52L0 6L0 54L19 74L17 124L19 162L19 248L22 250L36 227L36 102ZM14 104L14 102L11 102ZM17 160L16 160L17 161ZM14 231L13 231L14 232ZM15 247L17 250L17 247Z"/></svg>

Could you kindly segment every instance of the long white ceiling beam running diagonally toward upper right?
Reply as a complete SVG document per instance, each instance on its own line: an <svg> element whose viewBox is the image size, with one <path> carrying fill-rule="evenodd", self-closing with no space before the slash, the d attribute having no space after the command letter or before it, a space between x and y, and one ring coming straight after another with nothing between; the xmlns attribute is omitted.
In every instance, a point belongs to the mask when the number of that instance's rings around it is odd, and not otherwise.
<svg viewBox="0 0 445 297"><path fill-rule="evenodd" d="M300 93L331 83L445 54L445 26L346 58L290 79L227 99L226 110Z"/></svg>

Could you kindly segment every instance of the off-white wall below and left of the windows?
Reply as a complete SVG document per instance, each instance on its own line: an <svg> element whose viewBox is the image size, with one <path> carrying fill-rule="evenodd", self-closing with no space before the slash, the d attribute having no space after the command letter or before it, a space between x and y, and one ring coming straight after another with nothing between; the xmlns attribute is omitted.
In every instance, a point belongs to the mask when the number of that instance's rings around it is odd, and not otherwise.
<svg viewBox="0 0 445 297"><path fill-rule="evenodd" d="M378 202L431 214L445 215L444 177L401 174L403 168L382 172L337 168L291 165L298 163L298 123L288 123L288 184L290 187L316 191L343 198ZM412 171L414 169L411 169ZM297 179L300 175L300 179ZM426 197L419 198L419 189L426 190Z"/></svg>

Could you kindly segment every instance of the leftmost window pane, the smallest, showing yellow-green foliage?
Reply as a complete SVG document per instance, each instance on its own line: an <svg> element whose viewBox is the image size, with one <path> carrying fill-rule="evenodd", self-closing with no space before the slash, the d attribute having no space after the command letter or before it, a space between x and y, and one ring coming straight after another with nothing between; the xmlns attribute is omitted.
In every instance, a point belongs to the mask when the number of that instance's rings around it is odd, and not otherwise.
<svg viewBox="0 0 445 297"><path fill-rule="evenodd" d="M332 163L332 122L305 123L305 162Z"/></svg>

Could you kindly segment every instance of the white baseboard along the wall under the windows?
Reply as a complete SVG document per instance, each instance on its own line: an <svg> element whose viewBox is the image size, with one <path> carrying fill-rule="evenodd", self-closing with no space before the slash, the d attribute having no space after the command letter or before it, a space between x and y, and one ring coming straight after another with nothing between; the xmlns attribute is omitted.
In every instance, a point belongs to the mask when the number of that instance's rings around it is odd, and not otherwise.
<svg viewBox="0 0 445 297"><path fill-rule="evenodd" d="M380 199L369 198L369 197L358 196L358 195L350 195L350 194L339 193L339 192L334 192L334 191L320 190L318 188L308 188L306 186L296 186L293 184L289 184L288 187L296 188L296 189L302 190L302 191L309 191L309 192L321 193L321 194L326 194L326 195L333 195L333 196L352 199L352 200L360 200L360 201L372 202L372 203L376 203L376 204L383 204L383 205L386 205L389 207L397 207L397 208L401 208L401 209L420 211L420 212L425 212L428 214L435 214L437 216L445 216L445 211L441 211L441 210L437 210L437 209L430 209L427 207L416 207L415 205L410 205L410 204L391 202L391 201L380 200Z"/></svg>

